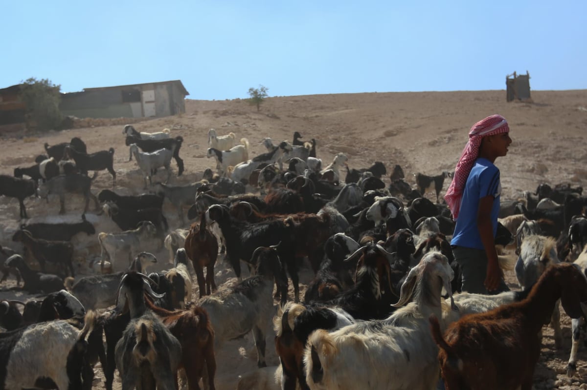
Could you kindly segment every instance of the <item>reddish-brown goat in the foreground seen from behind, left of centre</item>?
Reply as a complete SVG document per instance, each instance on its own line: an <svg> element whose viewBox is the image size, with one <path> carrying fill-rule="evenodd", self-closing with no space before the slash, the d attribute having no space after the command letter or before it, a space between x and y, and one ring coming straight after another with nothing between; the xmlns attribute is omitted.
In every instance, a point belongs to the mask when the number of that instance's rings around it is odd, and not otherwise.
<svg viewBox="0 0 587 390"><path fill-rule="evenodd" d="M216 373L214 329L212 329L206 310L200 306L191 305L188 309L170 312L153 305L150 299L145 299L145 303L180 342L181 361L178 368L185 370L188 389L200 389L198 382L204 374L205 367L209 389L214 390L214 375Z"/></svg>

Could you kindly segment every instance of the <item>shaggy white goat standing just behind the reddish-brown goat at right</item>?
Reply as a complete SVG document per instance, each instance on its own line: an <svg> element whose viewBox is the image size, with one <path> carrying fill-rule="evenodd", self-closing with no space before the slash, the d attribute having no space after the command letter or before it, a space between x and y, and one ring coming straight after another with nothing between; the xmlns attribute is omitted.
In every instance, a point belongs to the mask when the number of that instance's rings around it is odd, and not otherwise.
<svg viewBox="0 0 587 390"><path fill-rule="evenodd" d="M531 288L538 281L545 269L560 261L556 255L556 242L552 237L527 235L522 241L518 261L515 264L515 276L522 290ZM561 312L556 302L551 317L556 348L562 345Z"/></svg>

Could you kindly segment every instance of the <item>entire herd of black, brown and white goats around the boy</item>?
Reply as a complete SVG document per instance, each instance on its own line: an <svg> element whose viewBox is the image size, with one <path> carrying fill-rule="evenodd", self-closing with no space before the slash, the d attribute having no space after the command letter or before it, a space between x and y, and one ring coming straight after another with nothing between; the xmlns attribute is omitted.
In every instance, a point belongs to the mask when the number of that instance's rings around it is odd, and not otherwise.
<svg viewBox="0 0 587 390"><path fill-rule="evenodd" d="M258 369L239 379L239 389L435 389L444 382L450 390L530 390L543 324L551 323L562 346L558 302L572 318L567 374L575 375L587 302L581 188L543 183L502 201L495 244L515 247L515 266L508 256L500 265L515 269L522 290L475 295L460 291L449 244L454 223L438 203L448 172L418 174L413 189L396 165L386 186L382 162L349 169L338 153L322 168L315 140L302 142L298 132L292 143L265 138L268 151L249 159L247 139L235 146L233 133L211 129L207 156L217 173L207 169L200 182L171 186L151 178L164 167L168 180L172 158L183 173L183 138L131 125L123 133L149 193L92 194L96 171L108 170L116 184L114 149L87 154L79 138L45 144L36 165L0 175L0 194L19 200L21 218L28 218L23 200L35 194L58 194L60 213L66 194L85 198L81 222L22 224L13 240L26 253L0 247L2 280L12 272L22 289L46 294L0 302L1 388L90 389L99 361L108 390L116 369L123 390L214 389L215 351L252 333ZM436 204L427 190L436 191ZM122 232L97 234L102 273L75 281L69 240L96 234L85 217L90 199ZM170 231L164 199L183 226L184 206L199 222ZM170 251L173 268L146 275L157 262L144 251L151 241ZM238 281L217 289L219 253ZM315 276L301 297L303 258ZM241 278L241 261L249 278ZM63 275L46 273L46 263ZM268 333L276 367L266 367Z"/></svg>

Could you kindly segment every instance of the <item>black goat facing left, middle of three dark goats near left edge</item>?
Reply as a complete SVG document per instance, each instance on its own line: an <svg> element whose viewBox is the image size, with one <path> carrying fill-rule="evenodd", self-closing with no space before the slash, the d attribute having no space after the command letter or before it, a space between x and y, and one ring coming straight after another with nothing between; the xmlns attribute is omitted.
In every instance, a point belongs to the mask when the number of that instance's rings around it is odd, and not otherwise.
<svg viewBox="0 0 587 390"><path fill-rule="evenodd" d="M71 242L33 238L28 230L17 230L12 236L12 241L22 242L32 257L39 262L42 272L45 272L45 262L50 262L62 265L66 269L69 268L71 276L75 276L75 271L73 271L73 245Z"/></svg>

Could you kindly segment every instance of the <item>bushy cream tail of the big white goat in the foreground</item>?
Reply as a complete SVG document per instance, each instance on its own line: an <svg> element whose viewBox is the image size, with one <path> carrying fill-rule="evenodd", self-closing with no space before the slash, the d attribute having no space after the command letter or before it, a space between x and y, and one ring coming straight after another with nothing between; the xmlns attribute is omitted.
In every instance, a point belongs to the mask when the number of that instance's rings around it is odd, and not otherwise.
<svg viewBox="0 0 587 390"><path fill-rule="evenodd" d="M308 338L304 353L304 363L306 364L306 380L308 384L321 383L324 378L324 372L328 371L328 362L330 357L336 354L336 346L332 336L328 331L318 329ZM308 380L311 379L311 380Z"/></svg>

